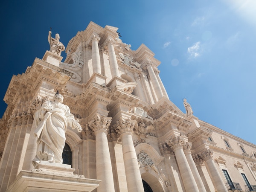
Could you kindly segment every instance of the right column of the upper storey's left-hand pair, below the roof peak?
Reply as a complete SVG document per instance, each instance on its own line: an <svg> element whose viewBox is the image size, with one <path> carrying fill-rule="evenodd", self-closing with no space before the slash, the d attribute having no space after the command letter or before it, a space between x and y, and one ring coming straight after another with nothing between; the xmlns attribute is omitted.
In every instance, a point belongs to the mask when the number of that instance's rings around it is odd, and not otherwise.
<svg viewBox="0 0 256 192"><path fill-rule="evenodd" d="M108 44L108 56L109 56L109 64L110 64L110 70L111 70L111 74L112 74L112 78L114 76L120 77L120 73L118 70L118 64L116 61L116 53L114 50L114 44L116 43L116 41L114 41L112 38L109 38L107 41Z"/></svg>

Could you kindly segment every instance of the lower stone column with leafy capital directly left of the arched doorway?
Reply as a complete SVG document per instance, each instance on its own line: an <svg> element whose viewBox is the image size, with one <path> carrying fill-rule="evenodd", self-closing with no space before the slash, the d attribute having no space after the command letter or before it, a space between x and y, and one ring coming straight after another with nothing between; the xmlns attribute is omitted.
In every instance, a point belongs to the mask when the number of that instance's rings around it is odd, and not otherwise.
<svg viewBox="0 0 256 192"><path fill-rule="evenodd" d="M134 123L130 119L120 119L116 122L116 132L122 140L122 153L125 163L125 176L128 192L143 192L143 183L140 175L140 168L136 151L132 140Z"/></svg>

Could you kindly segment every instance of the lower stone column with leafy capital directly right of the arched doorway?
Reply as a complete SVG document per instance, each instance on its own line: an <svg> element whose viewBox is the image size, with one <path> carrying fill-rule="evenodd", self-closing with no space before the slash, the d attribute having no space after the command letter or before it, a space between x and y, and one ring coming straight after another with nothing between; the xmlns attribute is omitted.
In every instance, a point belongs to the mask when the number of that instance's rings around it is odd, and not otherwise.
<svg viewBox="0 0 256 192"><path fill-rule="evenodd" d="M184 140L180 138L180 136L174 136L167 141L167 143L175 153L177 164L180 169L180 175L186 191L199 192L195 178L183 151Z"/></svg>

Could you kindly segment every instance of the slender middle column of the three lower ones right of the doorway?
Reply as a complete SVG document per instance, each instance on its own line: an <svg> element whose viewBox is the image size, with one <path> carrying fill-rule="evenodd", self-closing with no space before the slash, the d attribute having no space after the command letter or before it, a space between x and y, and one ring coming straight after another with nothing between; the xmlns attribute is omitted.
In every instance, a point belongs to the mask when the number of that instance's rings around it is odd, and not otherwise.
<svg viewBox="0 0 256 192"><path fill-rule="evenodd" d="M206 189L204 187L204 183L199 175L199 172L196 168L196 165L195 165L195 162L193 160L193 157L191 155L191 143L189 142L186 142L185 145L183 146L183 149L184 149L184 153L185 153L185 156L186 156L186 159L189 163L189 167L192 171L192 174L195 178L195 182L198 186L198 189L200 192L206 192Z"/></svg>

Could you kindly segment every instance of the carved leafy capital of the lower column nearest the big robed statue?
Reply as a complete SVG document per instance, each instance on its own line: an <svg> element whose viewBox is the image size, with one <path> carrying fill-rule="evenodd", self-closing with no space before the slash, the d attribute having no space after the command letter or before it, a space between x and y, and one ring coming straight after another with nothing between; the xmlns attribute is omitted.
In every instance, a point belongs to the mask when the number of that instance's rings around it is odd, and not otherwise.
<svg viewBox="0 0 256 192"><path fill-rule="evenodd" d="M97 113L95 118L90 121L88 125L93 129L94 132L99 130L108 131L110 123L111 117L105 117Z"/></svg>

